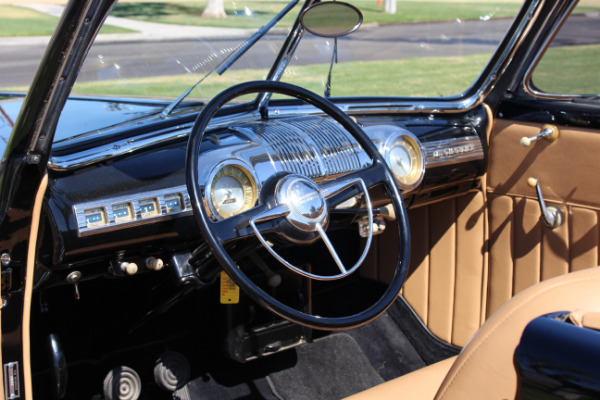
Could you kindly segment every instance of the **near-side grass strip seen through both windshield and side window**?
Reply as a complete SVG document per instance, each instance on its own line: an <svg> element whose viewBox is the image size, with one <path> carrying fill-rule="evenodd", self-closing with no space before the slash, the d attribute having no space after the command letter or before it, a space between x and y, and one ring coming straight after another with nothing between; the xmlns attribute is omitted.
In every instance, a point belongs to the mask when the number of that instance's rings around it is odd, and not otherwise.
<svg viewBox="0 0 600 400"><path fill-rule="evenodd" d="M461 57L406 58L334 65L333 96L451 96L466 90L488 62L488 54ZM533 75L549 93L600 94L600 45L551 48ZM323 93L328 64L290 66L282 79ZM568 73L565 73L568 71ZM239 82L264 79L267 70L229 70L206 80L192 95L211 98ZM79 83L78 94L177 97L199 76L183 74ZM23 90L23 88L20 88Z"/></svg>

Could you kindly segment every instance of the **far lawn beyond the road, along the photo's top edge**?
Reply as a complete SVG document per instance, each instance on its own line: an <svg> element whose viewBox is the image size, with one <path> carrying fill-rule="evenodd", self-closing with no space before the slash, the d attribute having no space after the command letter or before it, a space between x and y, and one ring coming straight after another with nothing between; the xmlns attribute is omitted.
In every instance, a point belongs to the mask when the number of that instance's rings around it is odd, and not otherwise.
<svg viewBox="0 0 600 400"><path fill-rule="evenodd" d="M411 23L424 21L448 21L512 17L516 15L518 2L479 1L466 2L439 0L397 0L397 12L386 14L377 0L347 0L357 6L364 15L364 23ZM382 0L384 3L385 0ZM588 2L589 3L589 2ZM599 11L600 7L583 3L576 12ZM166 24L222 26L235 28L258 28L273 18L288 1L286 0L225 0L227 18L203 18L205 1L123 1L113 9L112 15L142 21ZM289 27L300 8L301 1L279 26ZM589 3L595 4L595 3ZM0 36L50 35L58 18L31 9L0 5ZM126 29L105 26L102 33L130 32Z"/></svg>

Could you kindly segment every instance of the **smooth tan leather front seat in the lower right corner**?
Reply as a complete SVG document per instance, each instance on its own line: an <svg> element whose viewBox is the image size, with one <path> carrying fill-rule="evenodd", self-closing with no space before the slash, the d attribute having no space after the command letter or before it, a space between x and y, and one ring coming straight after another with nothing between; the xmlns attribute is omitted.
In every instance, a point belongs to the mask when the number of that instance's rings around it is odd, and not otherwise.
<svg viewBox="0 0 600 400"><path fill-rule="evenodd" d="M513 356L525 326L540 315L574 310L600 311L600 267L524 290L500 307L455 359L430 365L351 399L514 399L517 374Z"/></svg>

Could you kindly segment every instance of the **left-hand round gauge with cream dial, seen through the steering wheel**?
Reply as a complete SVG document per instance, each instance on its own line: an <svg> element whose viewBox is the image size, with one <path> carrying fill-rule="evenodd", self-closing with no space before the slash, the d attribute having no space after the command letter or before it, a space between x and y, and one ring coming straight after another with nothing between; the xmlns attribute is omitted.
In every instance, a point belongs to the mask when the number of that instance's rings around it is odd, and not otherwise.
<svg viewBox="0 0 600 400"><path fill-rule="evenodd" d="M222 218L250 209L256 203L256 182L252 174L236 164L222 165L210 181L211 208Z"/></svg>

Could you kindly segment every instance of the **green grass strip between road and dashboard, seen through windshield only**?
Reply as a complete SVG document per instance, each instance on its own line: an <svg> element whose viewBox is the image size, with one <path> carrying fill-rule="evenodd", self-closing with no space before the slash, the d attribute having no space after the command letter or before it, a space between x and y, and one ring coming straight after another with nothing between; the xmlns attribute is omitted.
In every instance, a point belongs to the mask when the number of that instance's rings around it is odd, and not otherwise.
<svg viewBox="0 0 600 400"><path fill-rule="evenodd" d="M489 55L410 58L398 61L348 62L334 66L333 96L447 96L467 89ZM323 93L328 64L289 67L283 80ZM266 70L230 70L208 79L192 95L210 98L239 82L264 79ZM390 79L392 77L392 79ZM448 79L452 77L452 79ZM83 82L75 94L176 97L190 87L196 75L172 75L103 82Z"/></svg>

